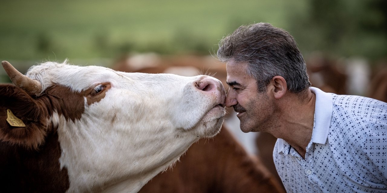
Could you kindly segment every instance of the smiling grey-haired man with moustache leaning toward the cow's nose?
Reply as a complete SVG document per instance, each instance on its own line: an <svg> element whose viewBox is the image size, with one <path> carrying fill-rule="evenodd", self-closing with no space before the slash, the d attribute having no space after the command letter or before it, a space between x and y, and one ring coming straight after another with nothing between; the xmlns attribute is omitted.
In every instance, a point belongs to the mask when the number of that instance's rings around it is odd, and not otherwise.
<svg viewBox="0 0 387 193"><path fill-rule="evenodd" d="M277 137L273 157L288 192L387 192L387 103L311 87L293 37L241 26L219 43L243 132Z"/></svg>

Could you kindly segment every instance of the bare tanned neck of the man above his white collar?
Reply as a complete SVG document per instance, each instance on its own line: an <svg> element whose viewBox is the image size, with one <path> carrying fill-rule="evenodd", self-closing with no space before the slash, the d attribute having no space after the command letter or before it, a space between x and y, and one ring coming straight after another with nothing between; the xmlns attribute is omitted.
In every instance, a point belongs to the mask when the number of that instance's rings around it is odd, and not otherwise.
<svg viewBox="0 0 387 193"><path fill-rule="evenodd" d="M312 138L315 99L310 90L301 99L295 94L289 94L279 105L282 112L279 115L281 124L274 129L272 135L288 142L305 159L306 147Z"/></svg>

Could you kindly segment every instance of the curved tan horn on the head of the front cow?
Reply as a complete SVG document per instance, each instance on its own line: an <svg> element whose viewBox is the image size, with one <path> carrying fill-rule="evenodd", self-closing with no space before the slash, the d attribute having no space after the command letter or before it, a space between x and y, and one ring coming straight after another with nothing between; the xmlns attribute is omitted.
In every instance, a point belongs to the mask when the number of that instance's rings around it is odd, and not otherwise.
<svg viewBox="0 0 387 193"><path fill-rule="evenodd" d="M16 86L23 89L30 95L38 95L39 93L41 93L42 85L39 81L29 78L26 75L20 73L7 61L2 61L1 64L3 65L3 68L5 72L7 72L11 81Z"/></svg>

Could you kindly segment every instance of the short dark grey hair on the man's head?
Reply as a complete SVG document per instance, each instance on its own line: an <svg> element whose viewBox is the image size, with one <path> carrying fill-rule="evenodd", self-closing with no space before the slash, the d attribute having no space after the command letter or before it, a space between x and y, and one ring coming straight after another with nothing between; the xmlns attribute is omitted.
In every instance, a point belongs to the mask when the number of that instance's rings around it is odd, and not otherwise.
<svg viewBox="0 0 387 193"><path fill-rule="evenodd" d="M282 76L288 90L299 93L311 84L305 61L293 37L268 23L242 25L219 42L217 57L222 62L248 63L247 74L263 92L274 76Z"/></svg>

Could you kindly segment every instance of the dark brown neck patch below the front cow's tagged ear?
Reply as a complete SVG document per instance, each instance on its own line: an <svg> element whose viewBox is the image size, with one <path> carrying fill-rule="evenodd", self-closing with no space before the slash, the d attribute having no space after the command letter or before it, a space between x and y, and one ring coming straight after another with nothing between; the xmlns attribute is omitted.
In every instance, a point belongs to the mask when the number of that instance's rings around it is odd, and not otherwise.
<svg viewBox="0 0 387 193"><path fill-rule="evenodd" d="M60 168L56 132L48 133L39 150L2 141L0 152L0 192L62 193L69 188L67 168Z"/></svg>

